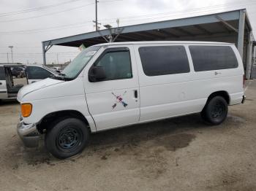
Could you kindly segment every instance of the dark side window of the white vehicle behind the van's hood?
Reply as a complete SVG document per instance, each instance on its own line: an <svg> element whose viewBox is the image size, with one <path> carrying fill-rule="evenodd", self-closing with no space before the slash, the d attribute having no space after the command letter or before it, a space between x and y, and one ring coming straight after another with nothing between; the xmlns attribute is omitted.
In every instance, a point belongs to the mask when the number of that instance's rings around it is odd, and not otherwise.
<svg viewBox="0 0 256 191"><path fill-rule="evenodd" d="M29 79L45 79L50 77L50 71L37 66L28 66L26 72Z"/></svg>

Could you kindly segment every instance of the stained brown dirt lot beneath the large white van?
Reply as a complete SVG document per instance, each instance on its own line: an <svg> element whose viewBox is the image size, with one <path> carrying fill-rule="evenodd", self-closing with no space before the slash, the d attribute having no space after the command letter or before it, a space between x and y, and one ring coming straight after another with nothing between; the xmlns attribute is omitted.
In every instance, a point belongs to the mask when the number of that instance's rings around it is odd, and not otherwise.
<svg viewBox="0 0 256 191"><path fill-rule="evenodd" d="M0 190L256 190L256 81L227 120L199 114L97 133L77 157L25 149L19 105L0 105Z"/></svg>

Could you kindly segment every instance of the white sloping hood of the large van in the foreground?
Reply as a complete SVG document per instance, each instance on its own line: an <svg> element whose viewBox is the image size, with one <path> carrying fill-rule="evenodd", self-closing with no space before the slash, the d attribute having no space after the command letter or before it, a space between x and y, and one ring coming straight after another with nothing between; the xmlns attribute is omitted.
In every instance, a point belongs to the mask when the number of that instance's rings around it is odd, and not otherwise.
<svg viewBox="0 0 256 191"><path fill-rule="evenodd" d="M51 79L51 78L47 78L47 79L42 79L39 82L34 82L30 85L26 85L24 87L22 87L17 95L17 100L20 102L22 100L22 98L27 95L28 93L34 92L35 90L39 90L42 89L44 87L49 87L51 85L56 85L59 83L62 83L64 81L62 80L58 80L58 79Z"/></svg>

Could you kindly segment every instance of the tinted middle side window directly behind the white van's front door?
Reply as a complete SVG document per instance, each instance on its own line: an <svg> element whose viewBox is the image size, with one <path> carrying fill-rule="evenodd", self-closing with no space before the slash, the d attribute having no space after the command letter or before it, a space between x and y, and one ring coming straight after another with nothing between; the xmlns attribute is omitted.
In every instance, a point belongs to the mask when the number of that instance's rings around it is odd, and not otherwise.
<svg viewBox="0 0 256 191"><path fill-rule="evenodd" d="M140 47L140 59L147 76L187 73L189 61L183 46Z"/></svg>

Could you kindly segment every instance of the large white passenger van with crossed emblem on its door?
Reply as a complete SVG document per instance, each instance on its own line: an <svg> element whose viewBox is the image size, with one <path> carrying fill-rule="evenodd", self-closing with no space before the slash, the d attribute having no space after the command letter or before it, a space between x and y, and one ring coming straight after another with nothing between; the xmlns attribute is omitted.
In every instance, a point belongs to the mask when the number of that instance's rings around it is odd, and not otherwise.
<svg viewBox="0 0 256 191"><path fill-rule="evenodd" d="M18 134L55 157L81 152L90 133L200 112L218 125L244 102L234 44L121 42L86 48L62 71L23 87Z"/></svg>

